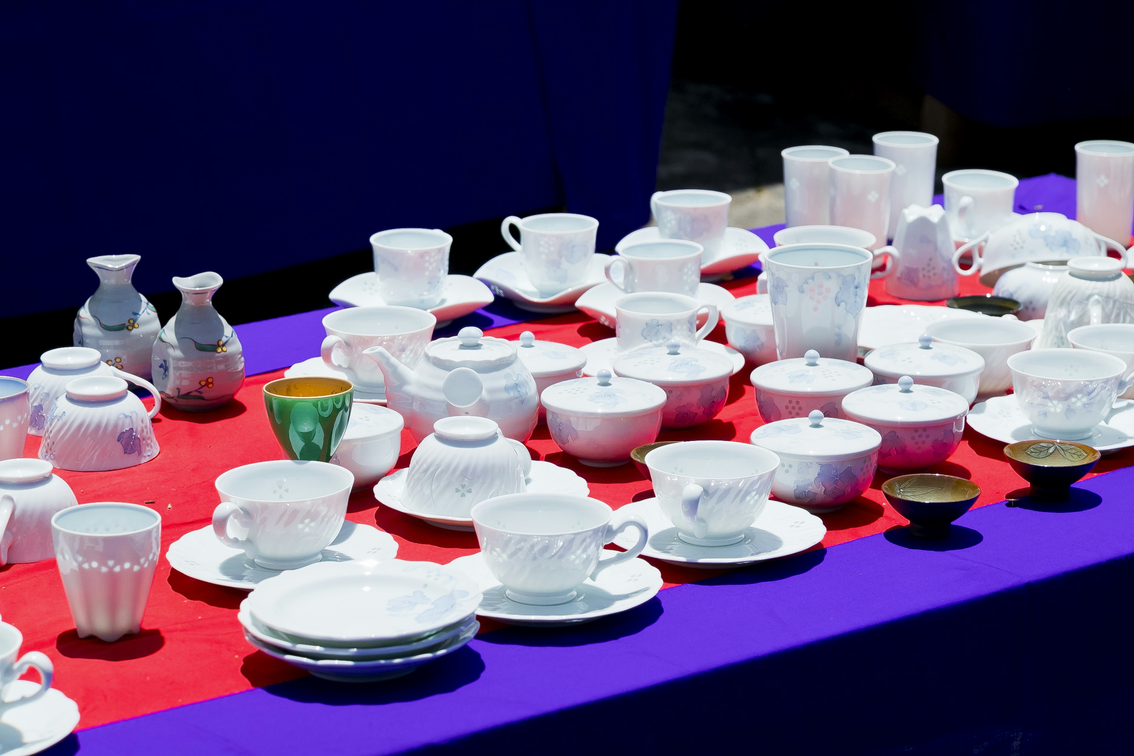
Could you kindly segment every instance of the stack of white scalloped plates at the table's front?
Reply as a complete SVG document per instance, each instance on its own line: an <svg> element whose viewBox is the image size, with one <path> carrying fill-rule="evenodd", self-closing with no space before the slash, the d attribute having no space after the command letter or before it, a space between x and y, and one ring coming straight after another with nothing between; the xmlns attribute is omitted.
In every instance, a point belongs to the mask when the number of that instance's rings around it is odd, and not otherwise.
<svg viewBox="0 0 1134 756"><path fill-rule="evenodd" d="M433 562L318 562L262 581L240 604L244 637L328 680L408 674L480 629L481 589Z"/></svg>

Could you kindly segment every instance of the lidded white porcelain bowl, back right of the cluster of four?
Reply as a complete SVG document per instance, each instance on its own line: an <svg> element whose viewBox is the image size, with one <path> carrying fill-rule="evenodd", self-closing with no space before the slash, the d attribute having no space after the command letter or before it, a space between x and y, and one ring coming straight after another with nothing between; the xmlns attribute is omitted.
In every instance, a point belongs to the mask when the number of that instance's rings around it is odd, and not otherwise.
<svg viewBox="0 0 1134 756"><path fill-rule="evenodd" d="M863 358L875 383L897 383L908 375L923 385L936 385L959 393L973 404L981 385L984 358L966 347L923 333L917 343L895 343L874 349Z"/></svg>

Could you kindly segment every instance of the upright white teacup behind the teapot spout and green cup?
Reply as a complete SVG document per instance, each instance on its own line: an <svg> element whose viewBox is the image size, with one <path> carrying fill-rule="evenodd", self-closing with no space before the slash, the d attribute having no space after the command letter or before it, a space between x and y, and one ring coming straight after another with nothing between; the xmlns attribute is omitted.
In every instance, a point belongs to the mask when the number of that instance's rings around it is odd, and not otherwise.
<svg viewBox="0 0 1134 756"><path fill-rule="evenodd" d="M363 350L386 347L398 362L413 369L425 352L437 317L416 307L348 307L323 317L327 338L321 348L323 363L346 373L347 380L364 392L383 390L382 371Z"/></svg>

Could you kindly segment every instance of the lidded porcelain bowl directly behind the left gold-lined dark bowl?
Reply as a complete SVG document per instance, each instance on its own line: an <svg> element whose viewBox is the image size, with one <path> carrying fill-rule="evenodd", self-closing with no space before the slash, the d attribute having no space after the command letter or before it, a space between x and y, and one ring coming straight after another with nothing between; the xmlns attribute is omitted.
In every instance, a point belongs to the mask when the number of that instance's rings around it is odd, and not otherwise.
<svg viewBox="0 0 1134 756"><path fill-rule="evenodd" d="M844 417L869 425L882 436L882 470L923 470L949 458L965 433L968 400L908 375L897 383L866 387L843 399Z"/></svg>

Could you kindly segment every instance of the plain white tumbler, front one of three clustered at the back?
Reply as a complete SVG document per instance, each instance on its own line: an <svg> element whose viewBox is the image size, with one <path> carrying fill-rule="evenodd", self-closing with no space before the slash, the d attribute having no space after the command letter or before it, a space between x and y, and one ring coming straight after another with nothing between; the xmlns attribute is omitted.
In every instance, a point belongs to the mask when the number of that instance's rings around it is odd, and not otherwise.
<svg viewBox="0 0 1134 756"><path fill-rule="evenodd" d="M892 160L874 155L844 155L828 161L831 168L831 223L861 228L882 246L890 223Z"/></svg>

